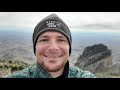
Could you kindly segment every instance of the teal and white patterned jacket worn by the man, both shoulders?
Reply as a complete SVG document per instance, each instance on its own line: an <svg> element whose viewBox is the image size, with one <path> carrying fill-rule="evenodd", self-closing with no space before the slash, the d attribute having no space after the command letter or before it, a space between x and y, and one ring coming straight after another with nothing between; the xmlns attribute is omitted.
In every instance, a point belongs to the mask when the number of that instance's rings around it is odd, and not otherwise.
<svg viewBox="0 0 120 90"><path fill-rule="evenodd" d="M26 69L12 73L8 78L53 78L37 63ZM67 78L96 78L89 71L84 71L75 66L68 67Z"/></svg>

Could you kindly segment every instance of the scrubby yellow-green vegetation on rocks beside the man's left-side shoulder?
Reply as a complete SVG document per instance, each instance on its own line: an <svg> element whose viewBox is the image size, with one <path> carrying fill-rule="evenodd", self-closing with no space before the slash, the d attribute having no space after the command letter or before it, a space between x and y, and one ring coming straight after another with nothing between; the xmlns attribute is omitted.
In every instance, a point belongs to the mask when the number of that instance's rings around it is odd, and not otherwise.
<svg viewBox="0 0 120 90"><path fill-rule="evenodd" d="M30 66L30 64L22 61L0 59L0 77L7 77L12 72L22 70L28 66Z"/></svg>

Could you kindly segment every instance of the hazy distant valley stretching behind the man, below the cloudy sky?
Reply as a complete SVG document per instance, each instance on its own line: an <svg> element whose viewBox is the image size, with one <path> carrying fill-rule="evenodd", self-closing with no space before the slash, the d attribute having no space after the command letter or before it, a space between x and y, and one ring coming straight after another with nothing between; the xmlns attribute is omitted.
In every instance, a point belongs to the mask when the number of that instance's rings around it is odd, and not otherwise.
<svg viewBox="0 0 120 90"><path fill-rule="evenodd" d="M83 49L89 45L103 43L112 50L113 62L120 63L120 33L72 32L72 54L70 64L74 65ZM0 30L0 59L21 60L35 63L32 31Z"/></svg>

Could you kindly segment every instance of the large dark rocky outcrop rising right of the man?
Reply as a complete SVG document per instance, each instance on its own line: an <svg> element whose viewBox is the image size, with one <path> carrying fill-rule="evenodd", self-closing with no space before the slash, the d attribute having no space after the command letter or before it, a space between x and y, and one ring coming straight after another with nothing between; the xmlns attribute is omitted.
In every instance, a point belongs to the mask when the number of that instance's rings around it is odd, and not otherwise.
<svg viewBox="0 0 120 90"><path fill-rule="evenodd" d="M104 44L86 47L75 66L91 72L101 72L112 65L112 52Z"/></svg>

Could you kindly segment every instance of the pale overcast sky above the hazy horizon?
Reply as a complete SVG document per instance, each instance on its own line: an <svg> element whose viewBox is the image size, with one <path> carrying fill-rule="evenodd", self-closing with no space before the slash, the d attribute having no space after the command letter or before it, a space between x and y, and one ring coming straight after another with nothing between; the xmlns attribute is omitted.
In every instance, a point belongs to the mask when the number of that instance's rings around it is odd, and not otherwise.
<svg viewBox="0 0 120 90"><path fill-rule="evenodd" d="M70 28L120 31L120 12L0 12L0 29L28 29L55 13Z"/></svg>

